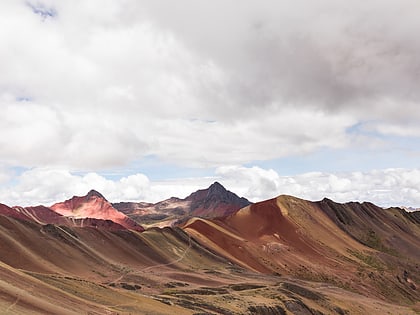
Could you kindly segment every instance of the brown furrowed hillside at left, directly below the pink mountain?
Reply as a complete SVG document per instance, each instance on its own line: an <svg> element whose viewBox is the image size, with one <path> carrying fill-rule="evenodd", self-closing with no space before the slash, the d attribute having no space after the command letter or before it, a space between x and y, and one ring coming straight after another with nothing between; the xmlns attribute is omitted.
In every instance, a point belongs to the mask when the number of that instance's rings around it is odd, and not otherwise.
<svg viewBox="0 0 420 315"><path fill-rule="evenodd" d="M165 266L178 270L199 263L214 269L226 263L177 228L108 231L40 225L0 215L0 244L1 261L14 268L103 281L118 278L122 270L143 275L142 270L151 268L163 272Z"/></svg>

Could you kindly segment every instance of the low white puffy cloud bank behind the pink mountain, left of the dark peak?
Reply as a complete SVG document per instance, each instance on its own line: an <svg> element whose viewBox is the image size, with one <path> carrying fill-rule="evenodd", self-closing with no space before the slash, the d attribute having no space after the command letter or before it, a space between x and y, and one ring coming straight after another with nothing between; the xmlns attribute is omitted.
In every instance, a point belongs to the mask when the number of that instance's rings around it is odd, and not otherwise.
<svg viewBox="0 0 420 315"><path fill-rule="evenodd" d="M10 176L1 174L0 180L7 184ZM109 179L95 172L77 174L60 168L34 168L16 176L13 184L0 188L0 203L48 206L75 195L84 196L91 189L99 191L111 202L157 202L170 197L184 198L208 187L214 180L213 177L203 177L151 181L141 173Z"/></svg>

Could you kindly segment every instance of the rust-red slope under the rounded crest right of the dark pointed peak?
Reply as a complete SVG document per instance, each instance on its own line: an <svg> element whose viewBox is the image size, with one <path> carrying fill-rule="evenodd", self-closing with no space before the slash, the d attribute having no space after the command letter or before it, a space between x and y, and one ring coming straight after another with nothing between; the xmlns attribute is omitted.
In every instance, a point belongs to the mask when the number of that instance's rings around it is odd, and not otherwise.
<svg viewBox="0 0 420 315"><path fill-rule="evenodd" d="M260 272L289 274L302 266L328 272L326 268L334 263L328 250L279 207L278 199L250 205L219 220L192 219L184 229L219 254Z"/></svg>

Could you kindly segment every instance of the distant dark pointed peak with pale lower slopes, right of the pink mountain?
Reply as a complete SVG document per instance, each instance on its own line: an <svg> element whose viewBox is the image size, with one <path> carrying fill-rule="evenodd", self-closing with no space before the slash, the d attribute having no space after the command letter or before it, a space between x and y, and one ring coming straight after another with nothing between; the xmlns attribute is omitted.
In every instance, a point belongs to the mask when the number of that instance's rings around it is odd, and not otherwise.
<svg viewBox="0 0 420 315"><path fill-rule="evenodd" d="M250 205L215 182L206 189L193 192L184 199L172 197L155 204L145 202L119 202L112 204L137 222L156 226L170 226L191 217L216 218L228 216Z"/></svg>

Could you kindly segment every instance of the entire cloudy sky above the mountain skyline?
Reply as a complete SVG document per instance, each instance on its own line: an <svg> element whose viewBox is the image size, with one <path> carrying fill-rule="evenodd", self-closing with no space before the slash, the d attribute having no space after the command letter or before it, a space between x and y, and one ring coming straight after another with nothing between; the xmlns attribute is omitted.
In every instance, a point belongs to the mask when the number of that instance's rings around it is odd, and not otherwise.
<svg viewBox="0 0 420 315"><path fill-rule="evenodd" d="M420 207L417 0L2 0L0 203Z"/></svg>

